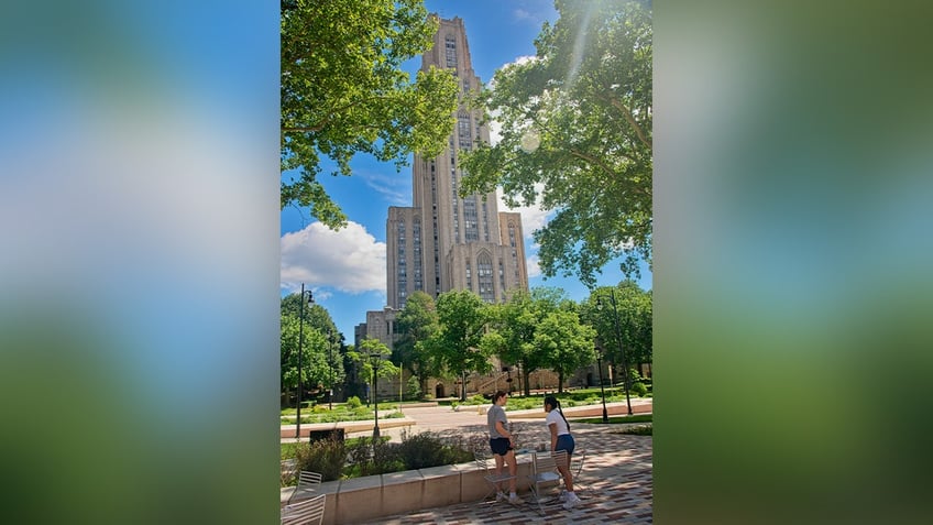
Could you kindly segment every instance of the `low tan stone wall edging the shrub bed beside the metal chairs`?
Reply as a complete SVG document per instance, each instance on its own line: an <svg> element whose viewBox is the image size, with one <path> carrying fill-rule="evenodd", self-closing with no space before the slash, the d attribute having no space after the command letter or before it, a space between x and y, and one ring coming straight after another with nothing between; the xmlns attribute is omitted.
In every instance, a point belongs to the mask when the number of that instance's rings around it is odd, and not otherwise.
<svg viewBox="0 0 933 525"><path fill-rule="evenodd" d="M518 492L527 492L531 455L519 455L517 463ZM321 483L318 492L327 494L323 523L361 523L393 514L480 501L490 489L483 479L484 472L475 462L470 462L328 481ZM283 506L294 490L282 489Z"/></svg>

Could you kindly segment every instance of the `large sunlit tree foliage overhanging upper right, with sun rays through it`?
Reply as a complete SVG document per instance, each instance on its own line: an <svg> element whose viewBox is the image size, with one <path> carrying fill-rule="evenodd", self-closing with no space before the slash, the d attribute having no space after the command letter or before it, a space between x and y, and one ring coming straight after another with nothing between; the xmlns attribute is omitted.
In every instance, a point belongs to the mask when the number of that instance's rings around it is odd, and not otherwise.
<svg viewBox="0 0 933 525"><path fill-rule="evenodd" d="M502 140L463 155L461 193L501 185L553 218L535 231L541 271L588 286L608 261L651 261L651 13L643 2L556 0L537 56L497 70L479 103Z"/></svg>

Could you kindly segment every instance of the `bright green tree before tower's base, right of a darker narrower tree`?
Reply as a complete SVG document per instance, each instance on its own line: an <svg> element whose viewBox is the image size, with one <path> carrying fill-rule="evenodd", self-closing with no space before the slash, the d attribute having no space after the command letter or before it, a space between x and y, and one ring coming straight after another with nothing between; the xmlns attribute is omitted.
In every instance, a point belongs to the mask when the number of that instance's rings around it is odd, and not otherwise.
<svg viewBox="0 0 933 525"><path fill-rule="evenodd" d="M466 373L491 370L490 352L481 344L486 327L486 306L469 291L440 294L437 300L440 328L424 341L422 349L443 369L460 378L460 401L466 401Z"/></svg>

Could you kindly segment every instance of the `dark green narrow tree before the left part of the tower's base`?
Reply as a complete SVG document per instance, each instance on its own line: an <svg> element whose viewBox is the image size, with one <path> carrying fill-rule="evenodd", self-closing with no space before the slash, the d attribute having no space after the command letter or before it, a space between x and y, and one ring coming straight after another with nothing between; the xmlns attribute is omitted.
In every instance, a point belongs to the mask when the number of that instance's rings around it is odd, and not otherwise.
<svg viewBox="0 0 933 525"><path fill-rule="evenodd" d="M405 308L395 319L395 360L417 378L418 387L425 392L428 378L440 372L437 360L424 349L424 341L430 339L439 328L435 299L424 292L409 295Z"/></svg>

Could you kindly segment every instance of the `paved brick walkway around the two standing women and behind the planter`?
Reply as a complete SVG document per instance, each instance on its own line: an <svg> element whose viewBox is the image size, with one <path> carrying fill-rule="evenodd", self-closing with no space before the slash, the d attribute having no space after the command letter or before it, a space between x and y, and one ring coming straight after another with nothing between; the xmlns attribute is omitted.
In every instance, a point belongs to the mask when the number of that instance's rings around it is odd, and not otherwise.
<svg viewBox="0 0 933 525"><path fill-rule="evenodd" d="M643 411L638 411L643 412ZM406 416L417 424L409 431L431 430L442 435L473 436L486 433L486 416L476 411L455 413L450 407L406 408ZM511 419L518 447L533 448L549 442L542 419ZM645 524L651 521L652 478L651 437L622 434L623 425L591 425L573 423L571 430L578 451L585 448L586 459L579 491L583 503L564 511L560 502L546 505L547 515L537 505L513 506L493 501L461 503L429 508L407 515L384 516L375 524L414 525L422 523L454 524ZM402 429L383 434L400 435ZM359 433L366 435L367 433ZM371 435L371 434L370 434ZM522 494L530 500L529 494Z"/></svg>

